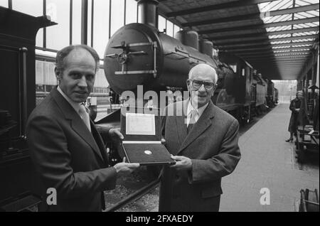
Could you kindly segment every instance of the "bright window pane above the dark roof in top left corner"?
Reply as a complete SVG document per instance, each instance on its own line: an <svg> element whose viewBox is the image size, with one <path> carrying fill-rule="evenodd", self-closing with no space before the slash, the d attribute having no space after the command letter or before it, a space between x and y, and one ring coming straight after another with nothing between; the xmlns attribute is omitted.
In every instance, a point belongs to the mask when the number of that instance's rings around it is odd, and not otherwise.
<svg viewBox="0 0 320 226"><path fill-rule="evenodd" d="M31 16L43 15L43 0L14 0L12 9Z"/></svg>

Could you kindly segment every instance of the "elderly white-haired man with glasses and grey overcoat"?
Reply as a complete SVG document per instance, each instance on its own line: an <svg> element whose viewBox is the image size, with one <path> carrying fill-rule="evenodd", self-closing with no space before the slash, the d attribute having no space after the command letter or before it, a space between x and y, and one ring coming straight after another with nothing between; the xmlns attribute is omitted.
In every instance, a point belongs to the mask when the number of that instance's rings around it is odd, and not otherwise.
<svg viewBox="0 0 320 226"><path fill-rule="evenodd" d="M160 211L218 211L221 178L240 160L238 121L211 101L218 80L206 64L193 67L187 85L190 98L166 107L163 134L176 164L161 181Z"/></svg>

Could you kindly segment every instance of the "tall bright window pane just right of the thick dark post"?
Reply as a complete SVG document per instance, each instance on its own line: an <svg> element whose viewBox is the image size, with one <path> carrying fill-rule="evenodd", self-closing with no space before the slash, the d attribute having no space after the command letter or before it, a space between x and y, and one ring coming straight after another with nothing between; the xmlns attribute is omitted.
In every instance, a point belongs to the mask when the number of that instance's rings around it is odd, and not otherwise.
<svg viewBox="0 0 320 226"><path fill-rule="evenodd" d="M95 0L93 18L93 48L100 58L104 58L105 48L109 40L109 1Z"/></svg>

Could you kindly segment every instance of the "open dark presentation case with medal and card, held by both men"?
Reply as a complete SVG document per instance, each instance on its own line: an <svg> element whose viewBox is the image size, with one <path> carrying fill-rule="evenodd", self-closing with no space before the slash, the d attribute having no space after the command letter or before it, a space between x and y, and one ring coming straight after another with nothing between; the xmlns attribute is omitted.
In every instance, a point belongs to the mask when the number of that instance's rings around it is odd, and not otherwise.
<svg viewBox="0 0 320 226"><path fill-rule="evenodd" d="M161 144L161 115L158 108L121 108L121 149L129 163L146 165L174 164L171 154Z"/></svg>

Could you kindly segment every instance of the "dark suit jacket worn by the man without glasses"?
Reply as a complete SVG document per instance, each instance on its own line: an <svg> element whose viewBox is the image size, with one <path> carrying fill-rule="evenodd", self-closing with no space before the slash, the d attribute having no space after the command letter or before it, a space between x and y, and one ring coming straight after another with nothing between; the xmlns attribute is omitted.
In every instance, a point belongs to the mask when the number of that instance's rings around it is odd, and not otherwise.
<svg viewBox="0 0 320 226"><path fill-rule="evenodd" d="M117 173L91 122L85 126L75 109L55 88L31 113L27 124L31 158L43 182L42 195L56 188L50 211L101 211L103 190L115 187ZM46 203L46 196L43 201Z"/></svg>

